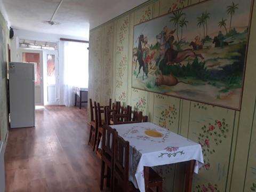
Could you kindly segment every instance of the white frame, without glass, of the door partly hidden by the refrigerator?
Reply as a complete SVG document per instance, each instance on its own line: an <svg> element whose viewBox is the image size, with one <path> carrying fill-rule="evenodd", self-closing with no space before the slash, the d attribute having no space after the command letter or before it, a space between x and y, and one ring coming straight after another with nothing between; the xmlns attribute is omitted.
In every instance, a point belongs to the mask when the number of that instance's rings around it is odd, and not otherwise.
<svg viewBox="0 0 256 192"><path fill-rule="evenodd" d="M18 49L18 60L22 61L22 53L39 53L39 62L40 62L40 74L41 74L41 83L40 85L35 85L35 87L40 87L40 101L39 103L35 103L37 106L44 106L44 62L43 62L43 50L34 50L34 49L26 49L26 48L19 48Z"/></svg>

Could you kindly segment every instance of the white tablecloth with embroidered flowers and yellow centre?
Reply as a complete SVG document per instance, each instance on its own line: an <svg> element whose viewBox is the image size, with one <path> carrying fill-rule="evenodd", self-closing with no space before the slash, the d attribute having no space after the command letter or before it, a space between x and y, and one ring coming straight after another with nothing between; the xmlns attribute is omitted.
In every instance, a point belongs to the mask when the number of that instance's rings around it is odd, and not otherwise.
<svg viewBox="0 0 256 192"><path fill-rule="evenodd" d="M124 140L130 142L129 180L145 191L144 166L157 166L195 159L194 172L203 166L199 143L163 129L153 123L111 125Z"/></svg>

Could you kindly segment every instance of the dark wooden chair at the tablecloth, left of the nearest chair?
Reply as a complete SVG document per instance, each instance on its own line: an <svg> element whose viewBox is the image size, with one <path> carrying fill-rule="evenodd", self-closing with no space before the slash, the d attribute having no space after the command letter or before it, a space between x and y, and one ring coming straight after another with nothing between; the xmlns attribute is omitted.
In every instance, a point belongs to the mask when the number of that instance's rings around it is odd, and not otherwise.
<svg viewBox="0 0 256 192"><path fill-rule="evenodd" d="M100 190L103 189L104 179L106 178L107 186L110 186L111 191L113 191L114 140L116 135L115 129L108 125L102 126ZM105 174L105 167L107 167L107 174Z"/></svg>

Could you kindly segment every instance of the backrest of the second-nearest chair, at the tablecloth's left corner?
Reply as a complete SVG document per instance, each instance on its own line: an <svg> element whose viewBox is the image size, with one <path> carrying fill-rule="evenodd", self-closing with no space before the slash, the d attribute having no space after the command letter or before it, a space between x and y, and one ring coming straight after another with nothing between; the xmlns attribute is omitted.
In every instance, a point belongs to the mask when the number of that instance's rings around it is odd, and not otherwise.
<svg viewBox="0 0 256 192"><path fill-rule="evenodd" d="M114 163L114 145L117 132L108 125L102 126L102 160Z"/></svg>

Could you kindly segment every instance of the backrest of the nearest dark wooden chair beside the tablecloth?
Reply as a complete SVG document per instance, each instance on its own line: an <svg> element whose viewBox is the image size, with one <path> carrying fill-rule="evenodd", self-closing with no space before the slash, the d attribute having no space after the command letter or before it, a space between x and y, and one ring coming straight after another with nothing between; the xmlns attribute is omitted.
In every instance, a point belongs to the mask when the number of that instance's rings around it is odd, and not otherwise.
<svg viewBox="0 0 256 192"><path fill-rule="evenodd" d="M114 145L114 175L118 184L127 189L129 183L129 141L125 141L116 134Z"/></svg>

